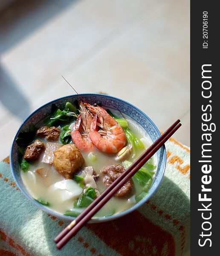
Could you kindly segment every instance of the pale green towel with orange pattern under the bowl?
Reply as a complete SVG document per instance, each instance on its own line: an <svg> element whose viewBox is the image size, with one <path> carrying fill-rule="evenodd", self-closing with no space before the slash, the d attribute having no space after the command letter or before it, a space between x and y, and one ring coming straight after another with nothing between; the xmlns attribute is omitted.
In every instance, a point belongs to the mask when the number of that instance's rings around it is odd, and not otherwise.
<svg viewBox="0 0 220 256"><path fill-rule="evenodd" d="M165 176L151 199L122 218L87 224L61 250L53 238L67 221L26 199L6 158L0 163L0 256L189 255L190 150L172 138L165 145Z"/></svg>

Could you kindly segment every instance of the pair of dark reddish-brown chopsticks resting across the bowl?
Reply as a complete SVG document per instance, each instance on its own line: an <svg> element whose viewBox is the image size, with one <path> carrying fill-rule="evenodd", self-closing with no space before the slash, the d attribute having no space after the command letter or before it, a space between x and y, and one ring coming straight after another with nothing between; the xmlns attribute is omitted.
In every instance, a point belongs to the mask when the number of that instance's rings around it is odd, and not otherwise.
<svg viewBox="0 0 220 256"><path fill-rule="evenodd" d="M114 182L105 189L78 217L75 218L67 227L64 228L54 241L56 247L61 249L93 215L98 212L110 198L127 182L152 156L159 148L179 129L181 124L178 119L167 129L134 163L128 167Z"/></svg>

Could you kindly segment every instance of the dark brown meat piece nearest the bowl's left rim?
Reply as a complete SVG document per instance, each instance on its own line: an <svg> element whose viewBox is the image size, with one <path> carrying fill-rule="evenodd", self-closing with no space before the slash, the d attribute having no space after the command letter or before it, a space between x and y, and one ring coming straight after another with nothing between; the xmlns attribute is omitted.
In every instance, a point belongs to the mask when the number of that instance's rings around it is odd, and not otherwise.
<svg viewBox="0 0 220 256"><path fill-rule="evenodd" d="M24 152L24 159L34 161L39 159L41 152L44 150L44 143L40 140L35 140L32 144L26 147Z"/></svg>

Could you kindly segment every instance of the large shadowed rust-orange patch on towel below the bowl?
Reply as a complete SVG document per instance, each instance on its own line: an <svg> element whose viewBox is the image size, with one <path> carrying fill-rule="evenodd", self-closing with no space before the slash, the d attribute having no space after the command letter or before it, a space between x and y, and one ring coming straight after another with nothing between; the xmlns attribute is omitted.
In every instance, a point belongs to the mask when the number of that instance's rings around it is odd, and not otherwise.
<svg viewBox="0 0 220 256"><path fill-rule="evenodd" d="M138 211L115 221L87 224L87 228L123 256L162 255L164 250L169 256L175 255L175 242L171 234Z"/></svg>

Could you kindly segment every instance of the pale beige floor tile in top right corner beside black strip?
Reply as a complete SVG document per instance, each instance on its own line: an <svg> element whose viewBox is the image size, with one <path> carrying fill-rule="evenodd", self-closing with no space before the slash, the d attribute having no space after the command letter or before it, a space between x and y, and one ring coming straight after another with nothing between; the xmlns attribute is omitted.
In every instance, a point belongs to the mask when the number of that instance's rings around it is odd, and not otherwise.
<svg viewBox="0 0 220 256"><path fill-rule="evenodd" d="M127 34L123 47L189 91L189 1L171 0Z"/></svg>

